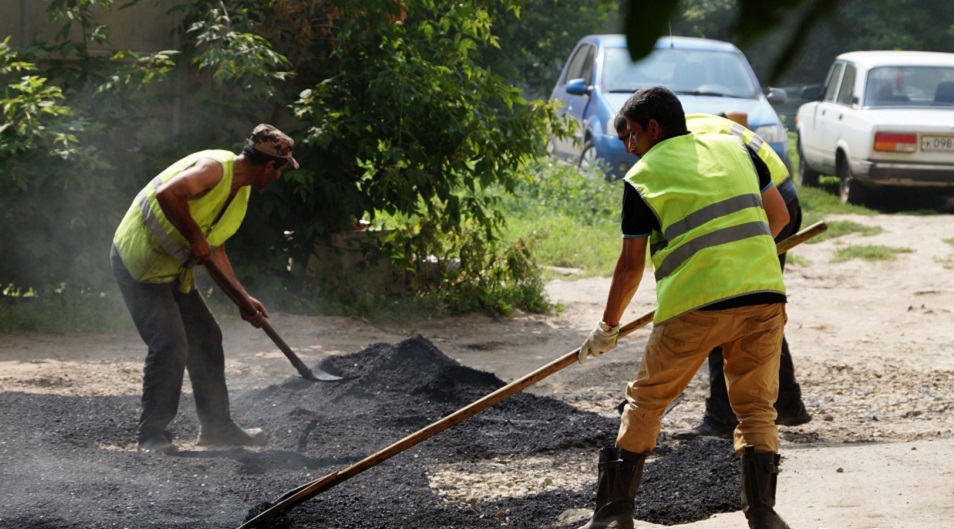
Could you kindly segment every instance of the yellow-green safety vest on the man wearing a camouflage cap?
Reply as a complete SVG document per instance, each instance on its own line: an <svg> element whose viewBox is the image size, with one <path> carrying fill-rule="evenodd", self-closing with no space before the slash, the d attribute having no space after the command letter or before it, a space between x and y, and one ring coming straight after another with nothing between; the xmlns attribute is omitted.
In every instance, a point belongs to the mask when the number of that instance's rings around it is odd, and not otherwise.
<svg viewBox="0 0 954 529"><path fill-rule="evenodd" d="M166 218L156 200L156 189L200 158L211 158L222 164L222 180L205 195L189 201L189 213L202 234L215 248L224 244L242 225L251 193L249 186L242 186L228 204L228 209L223 211L232 190L235 154L208 150L186 156L159 173L136 195L113 236L113 244L123 265L135 280L168 283L179 278L182 292L192 290L194 277L189 242Z"/></svg>

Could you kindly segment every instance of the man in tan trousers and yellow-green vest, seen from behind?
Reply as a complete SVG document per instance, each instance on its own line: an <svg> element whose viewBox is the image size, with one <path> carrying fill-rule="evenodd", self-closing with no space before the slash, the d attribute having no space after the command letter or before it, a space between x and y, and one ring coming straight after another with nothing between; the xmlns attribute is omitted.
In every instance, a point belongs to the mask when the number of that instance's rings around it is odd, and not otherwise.
<svg viewBox="0 0 954 529"><path fill-rule="evenodd" d="M669 89L638 90L623 106L630 148L622 248L603 319L579 360L616 347L620 318L653 262L657 309L635 380L626 389L615 446L600 451L596 509L581 529L632 529L646 458L662 415L721 346L729 400L739 419L742 510L750 529L789 529L775 511L778 427L772 404L785 326L785 285L773 237L789 222L767 175L742 141L694 134Z"/></svg>

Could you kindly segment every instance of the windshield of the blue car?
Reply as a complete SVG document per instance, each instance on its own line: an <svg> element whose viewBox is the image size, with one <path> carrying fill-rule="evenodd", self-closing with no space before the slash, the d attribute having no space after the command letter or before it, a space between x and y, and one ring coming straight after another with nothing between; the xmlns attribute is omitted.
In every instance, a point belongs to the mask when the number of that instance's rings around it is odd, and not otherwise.
<svg viewBox="0 0 954 529"><path fill-rule="evenodd" d="M755 79L740 53L660 48L633 63L625 48L607 48L602 89L632 93L662 85L677 94L752 99L758 95Z"/></svg>

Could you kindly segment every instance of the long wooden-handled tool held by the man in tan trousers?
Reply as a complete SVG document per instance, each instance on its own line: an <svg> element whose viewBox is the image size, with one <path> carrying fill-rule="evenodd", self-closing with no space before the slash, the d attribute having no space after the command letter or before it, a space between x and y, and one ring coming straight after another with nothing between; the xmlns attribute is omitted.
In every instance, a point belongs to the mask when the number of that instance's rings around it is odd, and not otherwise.
<svg viewBox="0 0 954 529"><path fill-rule="evenodd" d="M815 224L812 224L811 226L805 228L804 230L785 239L784 241L779 242L777 245L777 251L779 254L785 253L788 250L792 249L794 246L801 244L807 241L808 239L811 239L812 237L824 232L827 229L828 229L828 226L824 222L822 221L816 222ZM626 325L623 325L622 327L620 327L619 338L628 336L629 334L639 329L640 327L644 327L648 325L650 322L653 321L653 315L655 315L655 313L656 313L655 310L651 310L643 314L642 316L636 318L635 320L627 323ZM498 402L508 397L511 397L520 391L523 391L524 389L530 387L531 385L536 384L537 382L543 380L544 378L547 378L548 376L558 371L562 371L563 369L566 369L567 367L577 363L578 362L577 355L579 354L579 352L580 352L580 348L576 348L573 351L565 354L564 356L561 356L560 358L557 358L556 360L550 362L549 364L537 369L536 371L528 375L524 375L523 377L511 382L510 384L507 384L506 386L494 391L493 393L490 393L489 395L481 398L480 400L474 401L468 404L467 406L464 406L463 408L455 411L454 413L448 415L447 417L444 417L443 419L437 422L433 422L430 425L425 426L424 428L412 433L411 435L408 435L404 439L401 439L400 441L392 444L391 446L388 446L387 448L383 448L343 470L332 472L331 474L328 474L322 478L318 478L309 483L305 483L304 485L301 485L295 489L292 489L286 492L271 507L262 511L251 520L245 522L244 524L239 526L238 529L250 529L252 527L256 527L257 525L265 521L265 519L270 518L285 510L288 510L294 507L295 505L298 505L299 503L305 500L308 500L309 498L317 496L318 494L321 494L322 492L330 489L331 487L334 487L335 485L341 483L342 481L351 479L354 476L357 476L358 474L364 472L365 470L377 465L378 463L384 462L390 459L391 457L407 450L408 448L411 448L452 426L455 426L457 424L464 422L465 420L469 419L470 417L473 417L474 415L477 415L481 411L493 406L494 404L497 404ZM667 410L671 410L672 407L674 407L674 405L670 405L670 406L671 407L668 408Z"/></svg>

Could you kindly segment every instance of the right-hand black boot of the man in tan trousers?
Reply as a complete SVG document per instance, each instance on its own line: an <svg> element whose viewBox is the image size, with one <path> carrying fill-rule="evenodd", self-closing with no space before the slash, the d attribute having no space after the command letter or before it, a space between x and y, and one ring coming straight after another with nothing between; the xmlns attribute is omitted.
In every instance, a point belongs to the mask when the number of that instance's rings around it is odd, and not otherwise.
<svg viewBox="0 0 954 529"><path fill-rule="evenodd" d="M791 529L775 512L779 455L756 452L752 445L742 454L742 512L749 529Z"/></svg>

